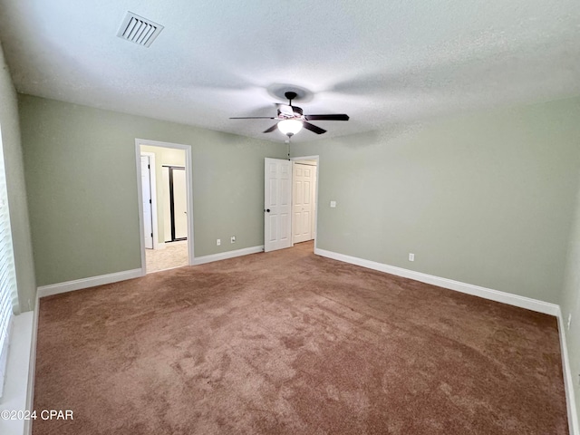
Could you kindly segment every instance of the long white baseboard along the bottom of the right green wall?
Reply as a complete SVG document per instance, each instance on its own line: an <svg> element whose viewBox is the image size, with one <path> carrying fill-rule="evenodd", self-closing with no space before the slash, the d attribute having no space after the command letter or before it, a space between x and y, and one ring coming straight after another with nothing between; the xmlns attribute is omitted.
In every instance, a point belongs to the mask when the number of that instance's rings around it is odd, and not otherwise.
<svg viewBox="0 0 580 435"><path fill-rule="evenodd" d="M414 279L415 281L420 281L421 283L438 285L440 287L449 288L449 290L455 290L457 292L467 293L468 295L483 297L484 299L501 302L503 304L519 306L520 308L526 308L527 310L536 311L538 313L557 316L560 312L559 305L538 301L537 299L532 299L531 297L512 295L511 293L500 292L498 290L481 287L479 285L462 283L460 281L441 278L440 276L435 275L427 275L421 272L415 272L414 270L403 269L402 267L384 265L382 263L365 260L356 256L345 256L344 254L338 254L336 252L327 251L325 249L316 248L314 249L314 254L318 256L333 258L334 260L343 261L344 263L350 263L352 265L378 270L380 272L385 272L391 275Z"/></svg>

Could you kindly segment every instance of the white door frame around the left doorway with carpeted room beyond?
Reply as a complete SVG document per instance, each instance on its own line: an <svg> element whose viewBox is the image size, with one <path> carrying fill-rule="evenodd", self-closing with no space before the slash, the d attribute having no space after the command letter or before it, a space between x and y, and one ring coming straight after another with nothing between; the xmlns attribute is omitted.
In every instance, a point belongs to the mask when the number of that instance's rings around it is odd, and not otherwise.
<svg viewBox="0 0 580 435"><path fill-rule="evenodd" d="M142 198L143 187L141 186L141 145L150 145L152 147L173 148L176 150L185 150L185 172L188 191L188 265L193 265L194 248L193 248L193 176L191 163L191 145L183 145L181 143L160 142L159 140L135 139L135 163L137 165L137 198ZM154 172L154 171L153 171ZM157 215L157 210L154 213ZM156 217L157 219L157 217ZM145 261L145 242L143 240L143 204L139 200L139 231L140 231L140 249L141 249L141 275L147 273ZM157 240L154 237L153 240Z"/></svg>

